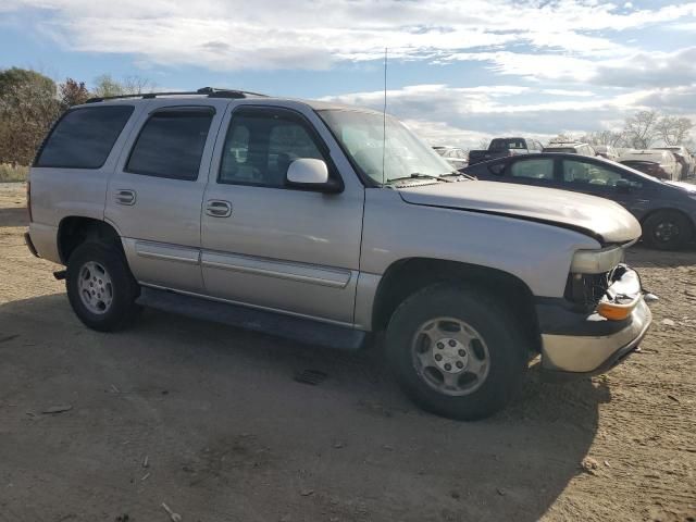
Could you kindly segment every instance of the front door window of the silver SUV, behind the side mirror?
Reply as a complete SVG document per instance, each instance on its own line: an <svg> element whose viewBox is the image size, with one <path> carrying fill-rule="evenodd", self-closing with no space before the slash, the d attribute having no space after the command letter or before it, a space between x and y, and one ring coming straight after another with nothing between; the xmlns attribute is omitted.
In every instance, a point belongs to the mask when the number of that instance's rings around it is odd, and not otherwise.
<svg viewBox="0 0 696 522"><path fill-rule="evenodd" d="M290 163L300 158L326 161L301 116L241 109L233 114L217 181L282 188Z"/></svg>

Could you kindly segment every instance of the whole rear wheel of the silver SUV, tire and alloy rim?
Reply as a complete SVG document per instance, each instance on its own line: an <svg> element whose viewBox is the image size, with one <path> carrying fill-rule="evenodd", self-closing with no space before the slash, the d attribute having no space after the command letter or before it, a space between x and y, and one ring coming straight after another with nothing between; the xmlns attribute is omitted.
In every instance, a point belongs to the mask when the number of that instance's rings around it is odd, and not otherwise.
<svg viewBox="0 0 696 522"><path fill-rule="evenodd" d="M140 311L135 302L140 288L122 251L112 245L79 245L67 261L65 288L75 314L99 332L122 330Z"/></svg>

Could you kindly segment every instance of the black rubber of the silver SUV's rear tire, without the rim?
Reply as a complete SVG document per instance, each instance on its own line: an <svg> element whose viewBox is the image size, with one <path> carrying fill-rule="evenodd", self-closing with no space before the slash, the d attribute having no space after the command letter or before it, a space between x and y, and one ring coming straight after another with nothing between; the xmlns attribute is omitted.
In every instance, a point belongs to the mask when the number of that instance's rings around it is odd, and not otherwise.
<svg viewBox="0 0 696 522"><path fill-rule="evenodd" d="M96 313L80 297L80 279L85 279L88 263L97 263L104 269L111 284L109 285L109 306ZM95 272L95 276L98 277ZM89 282L89 277L86 279ZM104 279L105 281L105 277ZM97 283L97 282L95 282ZM113 245L87 241L79 245L67 262L65 288L75 314L86 326L99 332L114 332L132 324L138 315L140 307L135 300L140 295L140 287L133 277L123 252Z"/></svg>

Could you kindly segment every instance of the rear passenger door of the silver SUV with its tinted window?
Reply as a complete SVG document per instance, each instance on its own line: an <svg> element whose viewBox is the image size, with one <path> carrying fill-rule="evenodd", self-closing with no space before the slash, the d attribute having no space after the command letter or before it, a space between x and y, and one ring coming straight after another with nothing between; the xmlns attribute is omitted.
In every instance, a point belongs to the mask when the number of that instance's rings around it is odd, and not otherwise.
<svg viewBox="0 0 696 522"><path fill-rule="evenodd" d="M153 100L109 179L105 219L144 284L201 293L200 213L228 101Z"/></svg>

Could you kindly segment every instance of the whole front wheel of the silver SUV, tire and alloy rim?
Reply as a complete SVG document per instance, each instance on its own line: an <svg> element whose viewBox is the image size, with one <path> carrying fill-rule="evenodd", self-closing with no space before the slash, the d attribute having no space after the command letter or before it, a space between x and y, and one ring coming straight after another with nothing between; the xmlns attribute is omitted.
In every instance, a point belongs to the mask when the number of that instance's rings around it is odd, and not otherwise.
<svg viewBox="0 0 696 522"><path fill-rule="evenodd" d="M407 298L391 315L385 345L399 384L417 405L464 421L489 417L510 401L523 382L530 352L518 321L498 299L447 283Z"/></svg>

